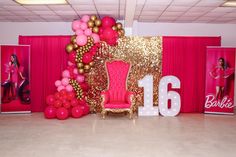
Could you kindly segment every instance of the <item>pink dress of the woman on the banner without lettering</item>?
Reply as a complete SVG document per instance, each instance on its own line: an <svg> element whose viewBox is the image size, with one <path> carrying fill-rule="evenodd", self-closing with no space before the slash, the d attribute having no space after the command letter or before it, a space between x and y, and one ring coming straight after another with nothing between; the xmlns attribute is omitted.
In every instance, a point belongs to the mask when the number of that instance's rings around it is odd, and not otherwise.
<svg viewBox="0 0 236 157"><path fill-rule="evenodd" d="M17 83L18 82L18 75L19 73L22 73L24 70L24 67L20 66L19 68L15 66L14 64L12 65L7 65L6 66L6 72L9 74L10 73L10 81L12 83Z"/></svg>

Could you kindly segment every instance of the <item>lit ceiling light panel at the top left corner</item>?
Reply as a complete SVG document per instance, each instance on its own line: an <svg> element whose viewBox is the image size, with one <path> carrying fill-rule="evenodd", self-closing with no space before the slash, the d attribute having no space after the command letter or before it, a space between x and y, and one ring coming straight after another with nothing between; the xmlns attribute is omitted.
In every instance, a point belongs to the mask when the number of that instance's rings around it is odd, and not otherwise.
<svg viewBox="0 0 236 157"><path fill-rule="evenodd" d="M67 4L66 0L15 0L23 5L38 5L38 4Z"/></svg>

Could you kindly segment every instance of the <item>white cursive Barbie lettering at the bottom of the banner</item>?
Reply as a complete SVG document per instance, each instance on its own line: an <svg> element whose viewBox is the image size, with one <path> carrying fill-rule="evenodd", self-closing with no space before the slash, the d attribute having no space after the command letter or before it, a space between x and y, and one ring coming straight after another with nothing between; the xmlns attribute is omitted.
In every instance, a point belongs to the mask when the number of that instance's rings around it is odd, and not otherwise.
<svg viewBox="0 0 236 157"><path fill-rule="evenodd" d="M224 96L222 100L217 100L214 95L207 95L205 107L233 108L234 105L232 99L228 98L228 96Z"/></svg>

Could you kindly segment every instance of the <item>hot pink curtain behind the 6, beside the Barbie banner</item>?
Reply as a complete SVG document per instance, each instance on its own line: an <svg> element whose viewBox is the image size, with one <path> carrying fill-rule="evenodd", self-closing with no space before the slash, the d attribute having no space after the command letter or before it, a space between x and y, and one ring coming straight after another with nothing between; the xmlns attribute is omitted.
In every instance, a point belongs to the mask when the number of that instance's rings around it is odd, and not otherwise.
<svg viewBox="0 0 236 157"><path fill-rule="evenodd" d="M204 111L206 47L220 45L220 37L163 37L162 75L180 79L182 113Z"/></svg>

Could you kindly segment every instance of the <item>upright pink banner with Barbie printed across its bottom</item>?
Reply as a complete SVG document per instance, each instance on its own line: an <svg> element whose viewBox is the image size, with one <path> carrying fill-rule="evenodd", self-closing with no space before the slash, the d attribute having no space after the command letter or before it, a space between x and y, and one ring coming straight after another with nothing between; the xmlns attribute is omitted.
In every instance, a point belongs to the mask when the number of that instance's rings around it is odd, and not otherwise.
<svg viewBox="0 0 236 157"><path fill-rule="evenodd" d="M235 50L207 48L205 113L234 113Z"/></svg>

